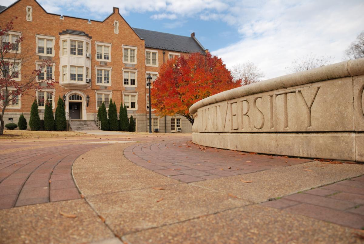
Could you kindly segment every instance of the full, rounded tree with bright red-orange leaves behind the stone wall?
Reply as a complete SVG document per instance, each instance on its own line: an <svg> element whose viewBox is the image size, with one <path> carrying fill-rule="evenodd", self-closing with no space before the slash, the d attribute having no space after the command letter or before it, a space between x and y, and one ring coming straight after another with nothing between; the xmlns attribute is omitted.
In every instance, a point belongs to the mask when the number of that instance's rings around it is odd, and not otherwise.
<svg viewBox="0 0 364 244"><path fill-rule="evenodd" d="M152 108L161 117L177 113L193 124L189 112L192 104L238 86L241 80L234 82L222 59L210 53L169 59L152 84Z"/></svg>

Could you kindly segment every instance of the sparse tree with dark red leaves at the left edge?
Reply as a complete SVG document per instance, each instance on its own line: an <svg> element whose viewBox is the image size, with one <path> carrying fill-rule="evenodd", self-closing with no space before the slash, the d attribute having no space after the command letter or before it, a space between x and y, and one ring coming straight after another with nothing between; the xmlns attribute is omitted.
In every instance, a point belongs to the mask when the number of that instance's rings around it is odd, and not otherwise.
<svg viewBox="0 0 364 244"><path fill-rule="evenodd" d="M20 75L20 68L24 67L27 62L33 61L34 54L32 54L33 51L27 50L25 47L20 48L23 36L17 36L15 41L9 39L8 33L11 30L13 30L13 20L6 23L5 27L0 26L0 135L4 133L5 109L14 104L20 94L26 94L31 89L39 90L54 85L53 80L46 80L43 83L46 85L40 86L36 80L36 77L43 72L44 67L52 65L50 61L44 60L39 69L33 70L31 75Z"/></svg>

